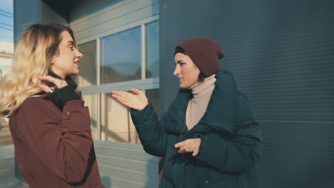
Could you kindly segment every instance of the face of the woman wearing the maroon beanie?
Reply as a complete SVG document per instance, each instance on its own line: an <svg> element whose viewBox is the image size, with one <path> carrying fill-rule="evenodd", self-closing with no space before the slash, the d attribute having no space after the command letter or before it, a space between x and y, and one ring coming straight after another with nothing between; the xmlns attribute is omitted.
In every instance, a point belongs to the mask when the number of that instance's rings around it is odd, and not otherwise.
<svg viewBox="0 0 334 188"><path fill-rule="evenodd" d="M201 71L189 56L183 53L176 53L174 61L176 68L173 74L178 77L180 88L188 89L198 83L198 75Z"/></svg>

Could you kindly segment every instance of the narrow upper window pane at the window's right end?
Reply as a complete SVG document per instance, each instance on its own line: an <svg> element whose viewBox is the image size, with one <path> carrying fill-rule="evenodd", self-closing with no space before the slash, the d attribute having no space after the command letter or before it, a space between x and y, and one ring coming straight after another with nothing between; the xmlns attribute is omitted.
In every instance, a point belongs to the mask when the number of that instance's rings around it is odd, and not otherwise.
<svg viewBox="0 0 334 188"><path fill-rule="evenodd" d="M146 78L159 77L159 24L146 25Z"/></svg>

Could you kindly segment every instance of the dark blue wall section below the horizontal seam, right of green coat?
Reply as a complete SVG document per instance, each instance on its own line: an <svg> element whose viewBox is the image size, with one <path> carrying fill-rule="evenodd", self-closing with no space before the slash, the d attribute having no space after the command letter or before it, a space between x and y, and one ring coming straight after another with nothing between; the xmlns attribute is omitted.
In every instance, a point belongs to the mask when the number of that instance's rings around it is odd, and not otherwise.
<svg viewBox="0 0 334 188"><path fill-rule="evenodd" d="M333 188L334 122L260 123L264 188Z"/></svg>

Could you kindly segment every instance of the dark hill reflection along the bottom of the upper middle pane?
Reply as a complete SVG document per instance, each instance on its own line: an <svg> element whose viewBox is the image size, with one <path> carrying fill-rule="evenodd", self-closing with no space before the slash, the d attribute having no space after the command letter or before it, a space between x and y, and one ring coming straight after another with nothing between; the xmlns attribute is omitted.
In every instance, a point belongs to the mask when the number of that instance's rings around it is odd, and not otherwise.
<svg viewBox="0 0 334 188"><path fill-rule="evenodd" d="M128 80L141 80L141 67L136 67L131 68L133 70L131 72L133 73L123 73L113 67L101 66L101 84L123 82Z"/></svg>

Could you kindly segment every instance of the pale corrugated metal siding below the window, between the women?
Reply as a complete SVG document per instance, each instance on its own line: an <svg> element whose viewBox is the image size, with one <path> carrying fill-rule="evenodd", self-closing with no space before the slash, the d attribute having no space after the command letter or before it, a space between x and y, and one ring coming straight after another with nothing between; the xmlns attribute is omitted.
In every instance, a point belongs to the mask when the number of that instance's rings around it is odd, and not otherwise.
<svg viewBox="0 0 334 188"><path fill-rule="evenodd" d="M106 187L158 187L158 158L141 145L95 141L96 159Z"/></svg>

